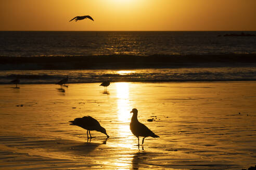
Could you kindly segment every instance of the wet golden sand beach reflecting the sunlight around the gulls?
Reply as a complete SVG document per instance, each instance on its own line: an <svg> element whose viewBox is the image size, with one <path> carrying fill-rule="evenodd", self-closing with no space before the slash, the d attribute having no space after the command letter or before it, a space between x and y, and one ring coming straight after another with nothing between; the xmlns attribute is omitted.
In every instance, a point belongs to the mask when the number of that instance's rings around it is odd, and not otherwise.
<svg viewBox="0 0 256 170"><path fill-rule="evenodd" d="M0 85L0 169L241 169L256 162L256 82ZM136 146L130 111L160 138ZM87 141L70 120L105 127ZM148 119L155 118L149 122ZM142 138L140 139L140 143Z"/></svg>

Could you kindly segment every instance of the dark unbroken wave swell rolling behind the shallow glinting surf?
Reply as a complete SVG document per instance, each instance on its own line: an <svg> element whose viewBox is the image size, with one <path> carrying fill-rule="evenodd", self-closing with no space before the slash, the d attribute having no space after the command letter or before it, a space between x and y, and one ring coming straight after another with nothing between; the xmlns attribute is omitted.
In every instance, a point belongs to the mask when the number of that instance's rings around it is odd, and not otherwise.
<svg viewBox="0 0 256 170"><path fill-rule="evenodd" d="M256 54L0 57L1 70L219 67L256 64Z"/></svg>

